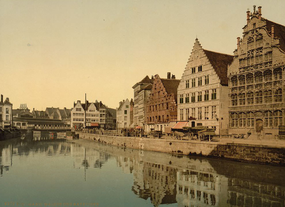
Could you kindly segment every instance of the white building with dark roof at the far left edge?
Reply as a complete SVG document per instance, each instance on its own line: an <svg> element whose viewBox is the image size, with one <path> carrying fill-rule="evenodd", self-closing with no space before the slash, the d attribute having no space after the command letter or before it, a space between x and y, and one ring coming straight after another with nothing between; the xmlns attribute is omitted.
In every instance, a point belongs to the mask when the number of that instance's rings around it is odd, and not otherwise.
<svg viewBox="0 0 285 207"><path fill-rule="evenodd" d="M1 94L0 127L9 128L10 126L12 126L13 122L12 106L13 104L9 101L8 97L5 99L5 101L3 101L3 95Z"/></svg>

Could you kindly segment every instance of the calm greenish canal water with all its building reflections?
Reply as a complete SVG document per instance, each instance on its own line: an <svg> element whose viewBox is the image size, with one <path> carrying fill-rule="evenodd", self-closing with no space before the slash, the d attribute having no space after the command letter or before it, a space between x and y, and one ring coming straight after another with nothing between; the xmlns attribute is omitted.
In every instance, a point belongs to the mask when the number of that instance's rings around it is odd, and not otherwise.
<svg viewBox="0 0 285 207"><path fill-rule="evenodd" d="M23 134L0 186L0 206L284 207L285 168Z"/></svg>

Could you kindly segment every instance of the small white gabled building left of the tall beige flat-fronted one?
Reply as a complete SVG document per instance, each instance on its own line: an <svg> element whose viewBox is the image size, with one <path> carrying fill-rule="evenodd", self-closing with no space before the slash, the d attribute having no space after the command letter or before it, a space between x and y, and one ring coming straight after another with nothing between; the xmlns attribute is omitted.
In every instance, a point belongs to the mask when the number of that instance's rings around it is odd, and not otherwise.
<svg viewBox="0 0 285 207"><path fill-rule="evenodd" d="M130 101L126 100L119 102L117 111L118 128L129 128L130 127Z"/></svg>

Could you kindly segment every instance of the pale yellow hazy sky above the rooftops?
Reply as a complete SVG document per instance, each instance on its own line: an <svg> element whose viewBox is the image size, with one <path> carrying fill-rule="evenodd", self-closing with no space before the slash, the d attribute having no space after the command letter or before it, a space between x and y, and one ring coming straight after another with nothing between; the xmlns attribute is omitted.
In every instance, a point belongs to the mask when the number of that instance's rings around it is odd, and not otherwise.
<svg viewBox="0 0 285 207"><path fill-rule="evenodd" d="M285 25L285 1L0 0L0 93L13 108L133 98L146 75L180 79L196 36L233 54L247 8Z"/></svg>

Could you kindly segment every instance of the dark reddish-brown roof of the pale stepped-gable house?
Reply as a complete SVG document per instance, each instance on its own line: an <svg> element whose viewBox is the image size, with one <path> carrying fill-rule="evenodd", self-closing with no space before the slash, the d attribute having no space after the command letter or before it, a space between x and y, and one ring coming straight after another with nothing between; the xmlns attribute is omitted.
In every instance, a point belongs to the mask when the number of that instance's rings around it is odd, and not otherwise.
<svg viewBox="0 0 285 207"><path fill-rule="evenodd" d="M204 52L221 80L221 84L228 86L228 64L231 64L233 56L209 50L204 50Z"/></svg>

